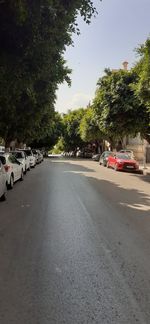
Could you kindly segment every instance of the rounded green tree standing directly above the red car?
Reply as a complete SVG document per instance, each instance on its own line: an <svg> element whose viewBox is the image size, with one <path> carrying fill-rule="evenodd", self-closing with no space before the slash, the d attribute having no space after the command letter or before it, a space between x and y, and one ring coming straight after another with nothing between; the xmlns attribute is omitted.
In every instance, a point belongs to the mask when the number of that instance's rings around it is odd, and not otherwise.
<svg viewBox="0 0 150 324"><path fill-rule="evenodd" d="M141 129L144 107L133 89L136 82L134 71L106 69L97 83L93 107L100 130L112 144Z"/></svg>

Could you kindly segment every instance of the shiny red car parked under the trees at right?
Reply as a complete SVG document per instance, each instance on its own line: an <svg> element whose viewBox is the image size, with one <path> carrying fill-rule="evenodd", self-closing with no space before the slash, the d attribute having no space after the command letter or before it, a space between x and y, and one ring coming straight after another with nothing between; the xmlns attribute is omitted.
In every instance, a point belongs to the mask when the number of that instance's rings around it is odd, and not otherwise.
<svg viewBox="0 0 150 324"><path fill-rule="evenodd" d="M108 157L107 168L112 167L116 171L138 171L139 164L128 154L113 153Z"/></svg>

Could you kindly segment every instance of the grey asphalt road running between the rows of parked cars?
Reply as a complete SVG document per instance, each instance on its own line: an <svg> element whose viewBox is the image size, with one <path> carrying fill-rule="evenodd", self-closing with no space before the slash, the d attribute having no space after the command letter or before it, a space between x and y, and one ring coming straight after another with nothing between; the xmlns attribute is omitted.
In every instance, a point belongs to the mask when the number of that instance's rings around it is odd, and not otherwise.
<svg viewBox="0 0 150 324"><path fill-rule="evenodd" d="M47 159L0 203L1 324L149 324L150 182Z"/></svg>

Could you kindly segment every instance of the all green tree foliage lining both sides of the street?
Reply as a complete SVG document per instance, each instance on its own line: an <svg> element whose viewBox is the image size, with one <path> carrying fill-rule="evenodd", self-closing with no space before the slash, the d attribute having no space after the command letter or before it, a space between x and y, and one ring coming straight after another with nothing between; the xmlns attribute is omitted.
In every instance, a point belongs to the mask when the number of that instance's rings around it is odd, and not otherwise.
<svg viewBox="0 0 150 324"><path fill-rule="evenodd" d="M71 84L64 53L79 34L77 17L96 15L93 1L3 0L0 2L0 138L55 151L75 151L126 135L150 143L150 39L137 49L130 71L105 69L93 102L60 115L56 90Z"/></svg>

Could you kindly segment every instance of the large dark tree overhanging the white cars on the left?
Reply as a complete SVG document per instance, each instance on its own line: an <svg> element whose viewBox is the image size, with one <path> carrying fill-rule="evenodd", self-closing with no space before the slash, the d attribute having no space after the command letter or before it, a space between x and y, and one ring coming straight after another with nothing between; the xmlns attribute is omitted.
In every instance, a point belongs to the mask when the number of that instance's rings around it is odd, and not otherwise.
<svg viewBox="0 0 150 324"><path fill-rule="evenodd" d="M89 23L95 12L88 0L0 2L0 136L6 145L44 136L58 84L70 83L63 54L79 33L77 15Z"/></svg>

